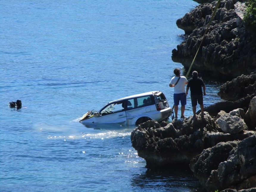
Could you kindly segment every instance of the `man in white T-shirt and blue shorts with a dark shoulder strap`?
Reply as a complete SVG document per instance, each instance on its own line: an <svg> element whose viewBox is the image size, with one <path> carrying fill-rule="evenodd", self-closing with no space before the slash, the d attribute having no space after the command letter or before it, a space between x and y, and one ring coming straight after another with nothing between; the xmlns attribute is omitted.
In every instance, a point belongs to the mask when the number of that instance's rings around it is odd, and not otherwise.
<svg viewBox="0 0 256 192"><path fill-rule="evenodd" d="M175 76L171 78L171 81L169 83L169 87L174 87L174 94L173 94L173 100L174 100L174 113L175 118L174 120L178 119L178 105L179 101L181 104L181 116L180 118L184 118L184 111L185 111L185 105L187 104L187 97L185 92L185 85L188 84L188 80L184 76L180 76L180 70L178 68L174 69Z"/></svg>

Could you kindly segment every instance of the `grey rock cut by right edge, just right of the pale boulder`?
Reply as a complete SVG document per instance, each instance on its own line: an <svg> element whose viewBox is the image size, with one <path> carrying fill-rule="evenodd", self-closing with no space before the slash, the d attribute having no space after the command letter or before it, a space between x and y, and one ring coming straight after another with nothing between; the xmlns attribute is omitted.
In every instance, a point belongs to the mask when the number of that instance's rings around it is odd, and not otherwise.
<svg viewBox="0 0 256 192"><path fill-rule="evenodd" d="M256 96L252 98L245 116L245 121L247 122L250 130L256 130Z"/></svg>

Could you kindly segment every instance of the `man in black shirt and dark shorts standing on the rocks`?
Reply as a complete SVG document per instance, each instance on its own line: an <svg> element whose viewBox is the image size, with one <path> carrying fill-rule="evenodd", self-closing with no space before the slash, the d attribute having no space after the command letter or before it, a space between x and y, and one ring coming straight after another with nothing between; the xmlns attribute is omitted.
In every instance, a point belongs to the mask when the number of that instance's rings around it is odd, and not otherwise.
<svg viewBox="0 0 256 192"><path fill-rule="evenodd" d="M191 95L191 104L192 104L192 110L193 110L193 118L196 118L196 105L197 102L200 105L201 108L201 115L204 116L204 104L203 104L203 93L205 93L205 83L203 79L198 77L197 71L193 71L192 78L188 80L187 90L186 94L188 94L188 89L190 88L190 95ZM202 92L202 88L203 91Z"/></svg>

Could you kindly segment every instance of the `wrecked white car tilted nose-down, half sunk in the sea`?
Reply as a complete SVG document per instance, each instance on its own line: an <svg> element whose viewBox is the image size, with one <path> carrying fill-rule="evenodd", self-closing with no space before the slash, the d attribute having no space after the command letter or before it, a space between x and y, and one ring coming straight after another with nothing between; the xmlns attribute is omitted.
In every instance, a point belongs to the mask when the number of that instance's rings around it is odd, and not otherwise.
<svg viewBox="0 0 256 192"><path fill-rule="evenodd" d="M88 111L79 122L139 125L148 120L167 121L171 111L161 91L150 91L111 101L98 111Z"/></svg>

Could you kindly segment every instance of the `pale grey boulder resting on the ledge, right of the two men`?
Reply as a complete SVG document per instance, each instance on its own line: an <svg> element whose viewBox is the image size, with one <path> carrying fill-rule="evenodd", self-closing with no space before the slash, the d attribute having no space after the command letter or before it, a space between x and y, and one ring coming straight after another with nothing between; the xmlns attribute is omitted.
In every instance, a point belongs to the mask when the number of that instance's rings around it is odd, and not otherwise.
<svg viewBox="0 0 256 192"><path fill-rule="evenodd" d="M221 115L221 117L217 119L216 123L224 133L238 134L243 130L248 130L243 119L230 114Z"/></svg>

